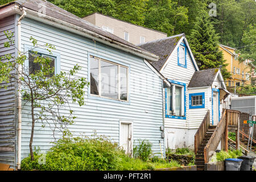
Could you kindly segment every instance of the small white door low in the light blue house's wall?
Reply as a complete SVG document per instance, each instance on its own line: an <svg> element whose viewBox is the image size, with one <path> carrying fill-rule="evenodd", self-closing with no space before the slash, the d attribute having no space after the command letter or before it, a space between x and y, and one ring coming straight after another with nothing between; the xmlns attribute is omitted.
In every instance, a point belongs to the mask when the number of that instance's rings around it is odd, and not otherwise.
<svg viewBox="0 0 256 182"><path fill-rule="evenodd" d="M120 126L120 146L125 150L125 154L131 155L132 152L132 141L131 141L131 124L121 123Z"/></svg>

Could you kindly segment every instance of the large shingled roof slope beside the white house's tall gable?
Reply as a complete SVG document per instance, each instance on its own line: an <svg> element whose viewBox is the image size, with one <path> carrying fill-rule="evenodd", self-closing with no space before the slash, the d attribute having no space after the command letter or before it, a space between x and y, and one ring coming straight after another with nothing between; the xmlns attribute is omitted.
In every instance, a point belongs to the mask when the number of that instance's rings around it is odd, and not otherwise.
<svg viewBox="0 0 256 182"><path fill-rule="evenodd" d="M159 60L151 64L160 71L182 36L185 36L185 34L169 36L168 38L154 40L138 46L159 56Z"/></svg>

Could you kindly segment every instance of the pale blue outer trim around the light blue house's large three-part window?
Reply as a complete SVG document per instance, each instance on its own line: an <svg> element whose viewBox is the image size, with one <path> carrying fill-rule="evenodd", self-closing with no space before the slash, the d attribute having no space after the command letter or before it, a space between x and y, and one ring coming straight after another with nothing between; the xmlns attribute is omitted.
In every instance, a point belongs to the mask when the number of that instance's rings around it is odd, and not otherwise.
<svg viewBox="0 0 256 182"><path fill-rule="evenodd" d="M127 84L128 85L127 99L128 99L128 101L119 101L119 100L113 100L111 98L95 96L93 94L90 94L90 86L88 86L88 98L92 99L92 100L100 100L100 101L106 101L106 102L114 102L114 103L117 103L117 104L130 105L130 88L131 88L130 87L130 64L126 64L126 63L123 63L121 61L112 59L110 57L102 56L102 55L99 55L97 53L93 53L93 52L88 51L88 81L90 81L90 56L95 56L95 57L98 57L98 58L101 58L101 59L104 59L104 60L107 60L107 61L110 61L110 62L113 62L113 63L116 63L116 64L123 65L123 66L128 68L128 76L127 76L127 81L128 81L128 84Z"/></svg>

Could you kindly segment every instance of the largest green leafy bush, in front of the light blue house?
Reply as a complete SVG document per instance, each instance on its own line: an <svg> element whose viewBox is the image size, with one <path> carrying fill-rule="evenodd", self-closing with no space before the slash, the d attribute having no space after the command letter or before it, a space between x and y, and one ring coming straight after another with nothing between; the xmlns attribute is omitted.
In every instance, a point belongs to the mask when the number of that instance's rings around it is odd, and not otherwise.
<svg viewBox="0 0 256 182"><path fill-rule="evenodd" d="M42 154L34 152L35 160L30 156L22 160L22 170L47 171L84 171L115 170L121 162L123 151L116 143L104 137L96 139L60 139L46 154L46 162L40 164Z"/></svg>

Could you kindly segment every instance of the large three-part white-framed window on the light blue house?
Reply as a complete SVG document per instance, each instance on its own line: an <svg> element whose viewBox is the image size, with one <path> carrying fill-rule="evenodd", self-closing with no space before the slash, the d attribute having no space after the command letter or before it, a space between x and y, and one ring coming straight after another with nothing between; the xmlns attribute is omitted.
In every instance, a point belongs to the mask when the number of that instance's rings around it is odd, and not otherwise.
<svg viewBox="0 0 256 182"><path fill-rule="evenodd" d="M128 68L90 56L90 94L128 101Z"/></svg>

